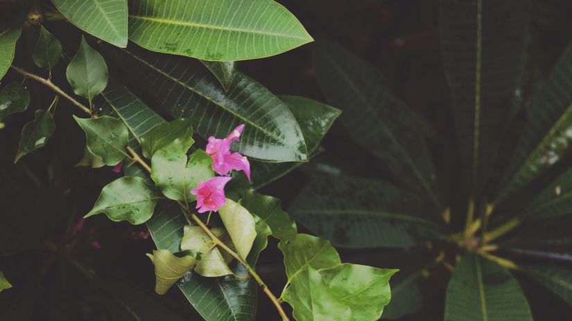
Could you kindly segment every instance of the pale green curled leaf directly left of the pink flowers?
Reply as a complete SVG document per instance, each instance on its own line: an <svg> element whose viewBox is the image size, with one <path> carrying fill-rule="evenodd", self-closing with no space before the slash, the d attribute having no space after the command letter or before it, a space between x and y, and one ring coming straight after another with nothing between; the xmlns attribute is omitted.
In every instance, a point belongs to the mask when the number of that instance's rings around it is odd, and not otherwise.
<svg viewBox="0 0 572 321"><path fill-rule="evenodd" d="M159 149L151 158L151 178L168 199L189 203L196 201L197 196L191 190L200 181L208 181L214 177L212 157L204 150L198 149L189 160L187 150L193 145L193 129L173 140L172 143Z"/></svg>

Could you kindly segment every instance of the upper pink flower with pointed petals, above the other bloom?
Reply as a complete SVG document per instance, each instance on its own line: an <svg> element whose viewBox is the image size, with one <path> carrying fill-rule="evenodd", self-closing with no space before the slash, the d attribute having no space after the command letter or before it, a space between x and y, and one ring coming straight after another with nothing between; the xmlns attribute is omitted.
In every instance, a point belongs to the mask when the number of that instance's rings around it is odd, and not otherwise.
<svg viewBox="0 0 572 321"><path fill-rule="evenodd" d="M239 153L230 152L230 144L233 141L239 141L244 124L236 127L227 138L218 139L214 136L209 137L206 152L213 158L213 170L217 174L226 175L232 170L242 170L250 181L250 163L245 156Z"/></svg>

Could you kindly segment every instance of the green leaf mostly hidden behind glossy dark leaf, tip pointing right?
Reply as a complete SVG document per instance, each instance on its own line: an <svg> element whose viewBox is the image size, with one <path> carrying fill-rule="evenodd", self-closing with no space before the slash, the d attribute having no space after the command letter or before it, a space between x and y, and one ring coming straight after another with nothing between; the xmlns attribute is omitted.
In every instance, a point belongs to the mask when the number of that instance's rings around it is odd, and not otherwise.
<svg viewBox="0 0 572 321"><path fill-rule="evenodd" d="M318 154L322 138L342 111L308 98L297 96L279 96L279 98L288 106L300 125L310 156ZM302 164L303 162L276 164L253 160L250 166L254 187L260 188L268 185Z"/></svg>

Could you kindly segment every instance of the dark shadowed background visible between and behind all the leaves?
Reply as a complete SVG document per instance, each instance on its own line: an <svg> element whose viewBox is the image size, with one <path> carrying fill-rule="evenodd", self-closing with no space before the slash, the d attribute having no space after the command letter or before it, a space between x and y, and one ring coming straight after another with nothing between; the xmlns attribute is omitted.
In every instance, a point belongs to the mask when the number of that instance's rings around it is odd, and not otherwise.
<svg viewBox="0 0 572 321"><path fill-rule="evenodd" d="M455 133L452 127L449 89L444 78L438 32L438 1L414 0L289 0L279 1L302 21L317 42L334 39L356 55L376 65L387 78L395 94L419 115L431 145L435 166L448 191L453 207L462 203L462 192L455 185L460 174L456 167ZM533 88L546 75L572 36L572 2L536 0L531 6L531 42L528 75ZM6 12L3 12L6 13ZM63 24L63 25L62 25ZM80 34L62 33L64 23L46 25L64 43L76 44ZM58 33L59 31L59 33ZM17 52L30 52L37 35L26 32ZM288 53L240 62L239 70L250 75L276 94L302 95L324 102L315 82L311 58L312 44ZM32 70L31 58L19 54L16 63ZM112 63L108 61L113 73ZM64 64L54 71L55 82L65 90ZM12 73L7 79L21 80ZM129 82L129 80L125 80ZM9 276L14 288L0 293L0 315L12 311L13 320L112 320L107 314L108 299L101 284L92 282L69 260L54 255L70 247L73 260L95 271L98 277L114 284L129 284L143 293L153 294L153 266L144 253L153 250L150 239L134 239L144 226L114 223L104 215L90 218L78 237L71 237L71 226L92 207L101 187L119 174L110 167L89 169L75 167L83 153L83 133L71 122L66 102L60 102L55 113L57 129L44 149L25 156L13 165L21 125L28 122L33 109L46 108L53 95L37 84L28 82L33 102L23 115L11 116L0 130L0 270ZM144 93L141 95L145 96ZM335 106L334 106L335 107ZM356 106L356 108L359 108ZM341 116L343 117L343 116ZM268 185L261 192L276 196L284 207L305 185L305 172L315 164L327 164L361 176L385 178L385 169L376 158L347 138L347 131L336 123L323 143L326 152L309 165ZM365 168L368 169L365 172ZM373 172L373 174L372 174ZM453 221L456 218L453 217ZM8 223L4 223L8 222ZM299 227L304 232L303 227ZM93 232L89 232L93 230ZM380 231L383 232L383 231ZM98 239L101 250L91 246ZM46 241L48 243L46 246ZM72 246L73 244L73 246ZM257 270L274 293L286 282L282 256L271 240L262 253ZM7 255L5 248L27 249ZM49 248L52 248L50 250ZM418 262L426 262L432 254L423 248L410 250L344 250L338 249L343 262L367 264L383 268L400 268L408 273ZM431 271L422 280L424 307L402 320L442 320L444 293L449 272L444 268ZM566 320L571 309L551 292L519 277L535 314L535 320ZM200 320L179 291L172 289L160 298L187 320ZM286 306L286 304L284 305ZM257 320L278 320L266 296L259 293ZM10 320L11 321L11 320Z"/></svg>

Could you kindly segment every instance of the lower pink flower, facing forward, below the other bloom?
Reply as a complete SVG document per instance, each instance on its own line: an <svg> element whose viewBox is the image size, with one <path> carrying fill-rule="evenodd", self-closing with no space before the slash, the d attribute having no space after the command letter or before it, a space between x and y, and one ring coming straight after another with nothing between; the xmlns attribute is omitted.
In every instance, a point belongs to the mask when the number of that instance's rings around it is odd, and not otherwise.
<svg viewBox="0 0 572 321"><path fill-rule="evenodd" d="M213 177L206 182L200 182L198 187L191 190L191 194L197 196L199 213L218 211L227 202L225 198L225 185L230 177Z"/></svg>

